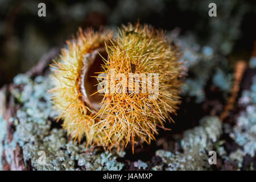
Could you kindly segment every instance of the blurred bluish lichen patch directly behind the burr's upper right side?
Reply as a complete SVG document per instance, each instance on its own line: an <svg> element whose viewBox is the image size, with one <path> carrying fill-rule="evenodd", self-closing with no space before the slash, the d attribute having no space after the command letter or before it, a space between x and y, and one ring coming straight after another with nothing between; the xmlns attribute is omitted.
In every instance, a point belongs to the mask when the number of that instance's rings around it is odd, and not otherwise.
<svg viewBox="0 0 256 182"><path fill-rule="evenodd" d="M172 34L170 35L172 36ZM175 37L174 37L175 39ZM205 101L205 86L211 79L214 87L221 89L224 97L230 93L233 84L233 75L230 73L228 61L224 56L214 54L214 49L209 46L200 46L191 36L175 39L181 47L184 67L189 70L189 75L183 85L183 96L195 97L196 104Z"/></svg>

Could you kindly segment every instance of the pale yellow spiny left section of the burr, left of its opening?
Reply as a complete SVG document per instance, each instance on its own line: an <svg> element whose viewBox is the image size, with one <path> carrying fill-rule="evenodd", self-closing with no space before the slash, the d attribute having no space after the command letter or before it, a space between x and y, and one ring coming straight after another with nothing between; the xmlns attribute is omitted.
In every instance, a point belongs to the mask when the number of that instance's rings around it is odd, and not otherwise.
<svg viewBox="0 0 256 182"><path fill-rule="evenodd" d="M92 140L93 122L90 108L81 100L80 73L83 67L83 57L112 38L112 32L94 32L91 29L79 30L77 38L67 42L68 48L61 49L59 61L53 61L52 93L53 104L59 111L59 118L64 120L63 127L68 134L81 140L84 135Z"/></svg>

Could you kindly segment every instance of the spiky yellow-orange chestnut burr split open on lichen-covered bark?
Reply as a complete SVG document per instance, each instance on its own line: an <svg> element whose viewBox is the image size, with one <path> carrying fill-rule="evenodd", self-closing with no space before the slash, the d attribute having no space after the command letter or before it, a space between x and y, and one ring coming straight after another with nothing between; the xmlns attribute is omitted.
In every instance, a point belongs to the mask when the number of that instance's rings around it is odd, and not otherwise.
<svg viewBox="0 0 256 182"><path fill-rule="evenodd" d="M139 23L123 26L114 38L112 33L80 30L67 43L60 61L52 65L51 93L68 134L108 149L155 139L157 128L175 114L182 83L179 52L163 31ZM130 92L98 93L97 74L109 76L113 70L115 75L145 74L147 79L148 73L157 73L157 97L149 89L138 93L128 85ZM114 85L121 81L114 79ZM143 80L136 84L142 86Z"/></svg>

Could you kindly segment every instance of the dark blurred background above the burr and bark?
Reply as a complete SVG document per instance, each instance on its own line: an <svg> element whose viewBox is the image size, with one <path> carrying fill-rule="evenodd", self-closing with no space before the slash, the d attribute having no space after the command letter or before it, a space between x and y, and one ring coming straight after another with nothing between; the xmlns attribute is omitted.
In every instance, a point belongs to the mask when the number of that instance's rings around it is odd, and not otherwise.
<svg viewBox="0 0 256 182"><path fill-rule="evenodd" d="M38 4L46 4L46 17ZM217 17L208 5L217 5ZM0 86L26 72L53 47L61 47L78 27L114 28L127 22L191 34L201 45L228 57L249 59L256 39L256 2L252 0L0 0Z"/></svg>

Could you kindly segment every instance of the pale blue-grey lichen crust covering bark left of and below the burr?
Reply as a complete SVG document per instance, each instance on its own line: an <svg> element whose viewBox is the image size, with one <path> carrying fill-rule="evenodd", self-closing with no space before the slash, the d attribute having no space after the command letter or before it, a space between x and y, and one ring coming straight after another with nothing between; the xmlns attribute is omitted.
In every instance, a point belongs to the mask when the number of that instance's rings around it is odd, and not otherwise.
<svg viewBox="0 0 256 182"><path fill-rule="evenodd" d="M68 140L63 129L52 126L50 119L57 113L52 110L50 96L46 91L51 88L48 77L38 76L33 81L26 75L18 75L14 78L14 85L13 94L22 107L11 118L15 124L11 143L7 142L5 132L1 131L0 140L5 138L7 162L11 163L10 154L15 150L16 144L19 144L22 147L24 163L30 162L32 169L36 170L122 169L123 164L116 161L121 154L102 153L98 150L88 152L92 148L86 148L86 142L79 144ZM23 90L19 89L20 85ZM0 121L1 130L6 131L4 120ZM46 154L44 163L38 162L40 151Z"/></svg>

